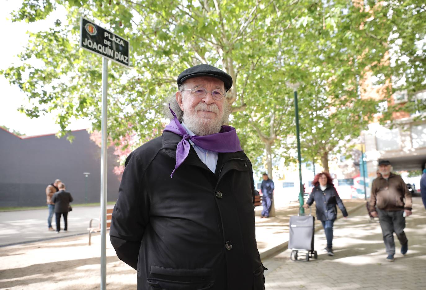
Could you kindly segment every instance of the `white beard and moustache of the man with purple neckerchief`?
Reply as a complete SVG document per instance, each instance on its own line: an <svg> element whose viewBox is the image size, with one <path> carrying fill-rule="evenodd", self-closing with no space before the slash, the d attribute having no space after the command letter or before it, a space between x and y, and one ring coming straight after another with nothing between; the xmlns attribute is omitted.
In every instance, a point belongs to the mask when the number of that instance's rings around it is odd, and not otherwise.
<svg viewBox="0 0 426 290"><path fill-rule="evenodd" d="M222 127L223 112L219 115L219 108L216 104L207 105L206 103L199 102L194 109L187 106L186 102L184 105L184 116L183 121L185 126L188 127L194 134L198 136L206 136L215 133L219 133ZM197 116L197 111L210 111L216 113L215 119L200 118Z"/></svg>

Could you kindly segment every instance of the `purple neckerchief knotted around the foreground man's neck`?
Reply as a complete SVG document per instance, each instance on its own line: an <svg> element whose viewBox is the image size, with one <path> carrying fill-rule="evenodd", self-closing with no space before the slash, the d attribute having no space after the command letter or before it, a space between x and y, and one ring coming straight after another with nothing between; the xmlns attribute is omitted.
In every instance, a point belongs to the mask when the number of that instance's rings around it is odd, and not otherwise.
<svg viewBox="0 0 426 290"><path fill-rule="evenodd" d="M170 108L172 112L173 120L164 128L164 131L173 132L179 136L182 136L182 141L178 143L176 148L176 165L173 169L170 177L173 177L173 173L176 169L185 161L189 154L190 143L188 140L191 140L195 145L200 146L205 150L210 150L213 152L237 152L242 151L242 148L239 144L239 139L234 127L231 126L222 126L224 132L219 132L207 136L190 136L186 132L185 128L179 122L176 117L175 112Z"/></svg>

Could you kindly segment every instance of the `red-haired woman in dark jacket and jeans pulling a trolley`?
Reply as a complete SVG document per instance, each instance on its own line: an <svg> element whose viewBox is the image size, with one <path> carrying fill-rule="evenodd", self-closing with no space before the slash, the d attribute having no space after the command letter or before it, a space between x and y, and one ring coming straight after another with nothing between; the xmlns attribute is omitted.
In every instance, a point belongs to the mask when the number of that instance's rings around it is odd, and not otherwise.
<svg viewBox="0 0 426 290"><path fill-rule="evenodd" d="M327 238L327 247L324 249L328 253L328 256L334 256L333 253L333 224L337 217L336 204L339 206L344 217L348 216L346 208L343 205L342 200L337 194L336 188L334 188L333 181L327 172L321 172L315 175L314 189L309 195L306 204L303 207L308 208L315 201L315 207L317 209L317 219L322 222L322 227L325 231L325 237Z"/></svg>

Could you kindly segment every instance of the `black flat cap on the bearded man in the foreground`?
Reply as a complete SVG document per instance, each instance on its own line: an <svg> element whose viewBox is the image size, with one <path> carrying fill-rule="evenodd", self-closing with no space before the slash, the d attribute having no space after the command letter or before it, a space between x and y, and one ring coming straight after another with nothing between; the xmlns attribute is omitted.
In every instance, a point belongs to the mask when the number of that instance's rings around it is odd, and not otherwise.
<svg viewBox="0 0 426 290"><path fill-rule="evenodd" d="M225 90L228 91L232 86L232 78L226 72L222 72L220 69L216 69L214 66L208 64L199 64L198 66L190 67L185 69L178 76L178 86L190 78L196 77L213 77L222 80L225 83Z"/></svg>

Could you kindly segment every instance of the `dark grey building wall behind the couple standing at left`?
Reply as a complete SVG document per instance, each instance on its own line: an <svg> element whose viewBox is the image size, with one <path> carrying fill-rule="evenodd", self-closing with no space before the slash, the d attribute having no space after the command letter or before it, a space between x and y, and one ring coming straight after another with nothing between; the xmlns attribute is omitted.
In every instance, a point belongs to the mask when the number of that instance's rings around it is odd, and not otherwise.
<svg viewBox="0 0 426 290"><path fill-rule="evenodd" d="M73 131L74 141L55 135L19 138L0 128L0 207L46 204L46 186L55 179L66 184L74 203L99 202L101 148L86 130ZM108 201L118 197L118 166L113 147L108 149ZM90 172L85 184L83 172ZM87 190L86 190L87 188Z"/></svg>

